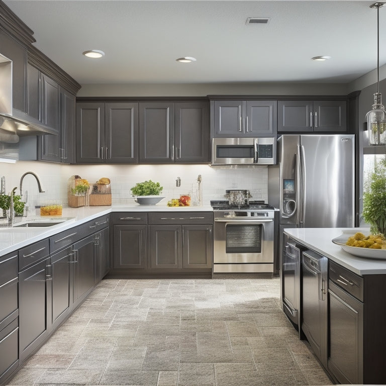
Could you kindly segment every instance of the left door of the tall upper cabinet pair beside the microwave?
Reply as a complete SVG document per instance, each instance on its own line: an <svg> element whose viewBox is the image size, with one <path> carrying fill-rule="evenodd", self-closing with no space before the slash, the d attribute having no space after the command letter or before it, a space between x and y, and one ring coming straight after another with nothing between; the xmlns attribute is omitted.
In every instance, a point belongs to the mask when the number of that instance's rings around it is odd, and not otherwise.
<svg viewBox="0 0 386 386"><path fill-rule="evenodd" d="M139 162L173 163L174 103L139 104Z"/></svg>

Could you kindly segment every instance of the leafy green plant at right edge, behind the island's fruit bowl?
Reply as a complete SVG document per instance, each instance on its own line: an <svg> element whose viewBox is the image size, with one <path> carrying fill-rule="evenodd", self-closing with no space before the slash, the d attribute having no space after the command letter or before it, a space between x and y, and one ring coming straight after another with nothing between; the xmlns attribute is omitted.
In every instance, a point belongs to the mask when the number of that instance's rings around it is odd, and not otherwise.
<svg viewBox="0 0 386 386"><path fill-rule="evenodd" d="M371 233L386 236L386 157L375 161L365 180L362 216Z"/></svg>

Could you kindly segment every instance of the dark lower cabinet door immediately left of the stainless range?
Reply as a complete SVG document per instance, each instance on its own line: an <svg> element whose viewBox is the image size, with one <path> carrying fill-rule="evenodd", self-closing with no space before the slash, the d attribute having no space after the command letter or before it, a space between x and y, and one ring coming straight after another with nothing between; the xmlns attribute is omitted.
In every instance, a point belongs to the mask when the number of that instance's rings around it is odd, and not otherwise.
<svg viewBox="0 0 386 386"><path fill-rule="evenodd" d="M182 226L182 268L212 268L212 225Z"/></svg>

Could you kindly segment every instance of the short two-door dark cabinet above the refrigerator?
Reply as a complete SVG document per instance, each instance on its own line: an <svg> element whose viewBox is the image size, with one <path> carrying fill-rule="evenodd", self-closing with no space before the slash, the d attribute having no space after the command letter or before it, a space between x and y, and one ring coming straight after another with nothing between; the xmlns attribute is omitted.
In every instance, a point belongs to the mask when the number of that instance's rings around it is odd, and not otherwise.
<svg viewBox="0 0 386 386"><path fill-rule="evenodd" d="M346 101L279 101L278 132L345 132Z"/></svg>

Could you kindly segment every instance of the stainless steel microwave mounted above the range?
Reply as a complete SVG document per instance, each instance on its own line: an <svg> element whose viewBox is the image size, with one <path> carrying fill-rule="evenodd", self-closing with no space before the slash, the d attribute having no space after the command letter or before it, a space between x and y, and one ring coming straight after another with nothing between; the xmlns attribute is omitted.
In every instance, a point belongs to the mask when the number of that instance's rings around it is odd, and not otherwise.
<svg viewBox="0 0 386 386"><path fill-rule="evenodd" d="M212 165L274 165L276 138L213 138Z"/></svg>

